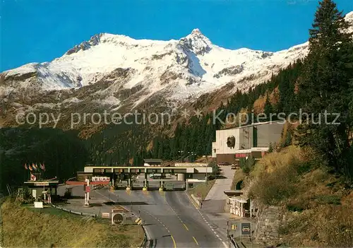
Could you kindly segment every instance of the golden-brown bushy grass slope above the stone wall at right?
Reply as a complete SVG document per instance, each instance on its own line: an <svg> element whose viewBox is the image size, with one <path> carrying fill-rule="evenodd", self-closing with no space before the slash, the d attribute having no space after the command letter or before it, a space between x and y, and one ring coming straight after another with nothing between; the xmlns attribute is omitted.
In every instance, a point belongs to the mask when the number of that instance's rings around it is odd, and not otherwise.
<svg viewBox="0 0 353 248"><path fill-rule="evenodd" d="M266 155L251 172L251 193L282 206L282 243L291 247L352 247L353 191L296 147Z"/></svg>

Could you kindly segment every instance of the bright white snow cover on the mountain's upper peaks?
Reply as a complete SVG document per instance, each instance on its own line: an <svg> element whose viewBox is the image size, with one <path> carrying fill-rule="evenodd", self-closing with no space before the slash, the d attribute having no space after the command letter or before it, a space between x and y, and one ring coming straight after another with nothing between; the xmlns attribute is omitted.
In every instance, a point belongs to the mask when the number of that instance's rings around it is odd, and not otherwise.
<svg viewBox="0 0 353 248"><path fill-rule="evenodd" d="M231 81L268 75L304 57L306 44L281 52L230 50L213 45L200 30L180 40L134 40L100 34L49 63L32 63L4 72L8 77L32 75L43 90L78 88L100 81L115 69L132 69L124 88L140 84L150 93L169 88L172 98L186 98L220 88ZM31 81L33 78L25 78ZM26 80L22 85L26 85ZM263 81L260 78L259 81ZM253 81L241 88L259 83Z"/></svg>

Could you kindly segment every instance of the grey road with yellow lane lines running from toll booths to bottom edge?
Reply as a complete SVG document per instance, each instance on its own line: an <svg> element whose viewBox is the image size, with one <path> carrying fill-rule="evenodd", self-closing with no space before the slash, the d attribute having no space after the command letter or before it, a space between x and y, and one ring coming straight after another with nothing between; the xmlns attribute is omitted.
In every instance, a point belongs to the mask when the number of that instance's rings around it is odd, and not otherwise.
<svg viewBox="0 0 353 248"><path fill-rule="evenodd" d="M119 203L133 201L157 247L224 247L184 191L115 191ZM131 205L127 206L131 209ZM150 218L148 217L150 215ZM167 231L167 232L165 232Z"/></svg>

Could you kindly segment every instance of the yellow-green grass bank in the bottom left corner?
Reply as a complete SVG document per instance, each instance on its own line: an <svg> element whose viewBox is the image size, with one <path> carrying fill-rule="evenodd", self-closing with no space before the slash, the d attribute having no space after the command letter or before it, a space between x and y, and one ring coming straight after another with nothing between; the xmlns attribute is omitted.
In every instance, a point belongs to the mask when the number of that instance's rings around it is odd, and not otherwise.
<svg viewBox="0 0 353 248"><path fill-rule="evenodd" d="M53 208L1 206L5 247L138 247L140 226L112 226L107 220L71 215ZM139 230L140 229L140 230Z"/></svg>

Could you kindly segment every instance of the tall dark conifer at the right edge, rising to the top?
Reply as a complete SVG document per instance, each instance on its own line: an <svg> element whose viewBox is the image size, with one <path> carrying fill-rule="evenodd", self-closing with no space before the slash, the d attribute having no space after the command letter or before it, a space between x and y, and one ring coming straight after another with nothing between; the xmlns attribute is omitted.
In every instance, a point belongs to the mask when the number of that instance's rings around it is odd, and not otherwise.
<svg viewBox="0 0 353 248"><path fill-rule="evenodd" d="M309 54L299 81L299 100L304 112L311 114L299 128L299 143L309 145L327 160L337 172L353 175L348 130L352 125L349 113L349 81L353 78L352 33L349 23L331 0L320 3L310 30ZM325 111L340 113L324 119ZM321 122L321 124L318 124ZM325 123L327 122L327 123Z"/></svg>

